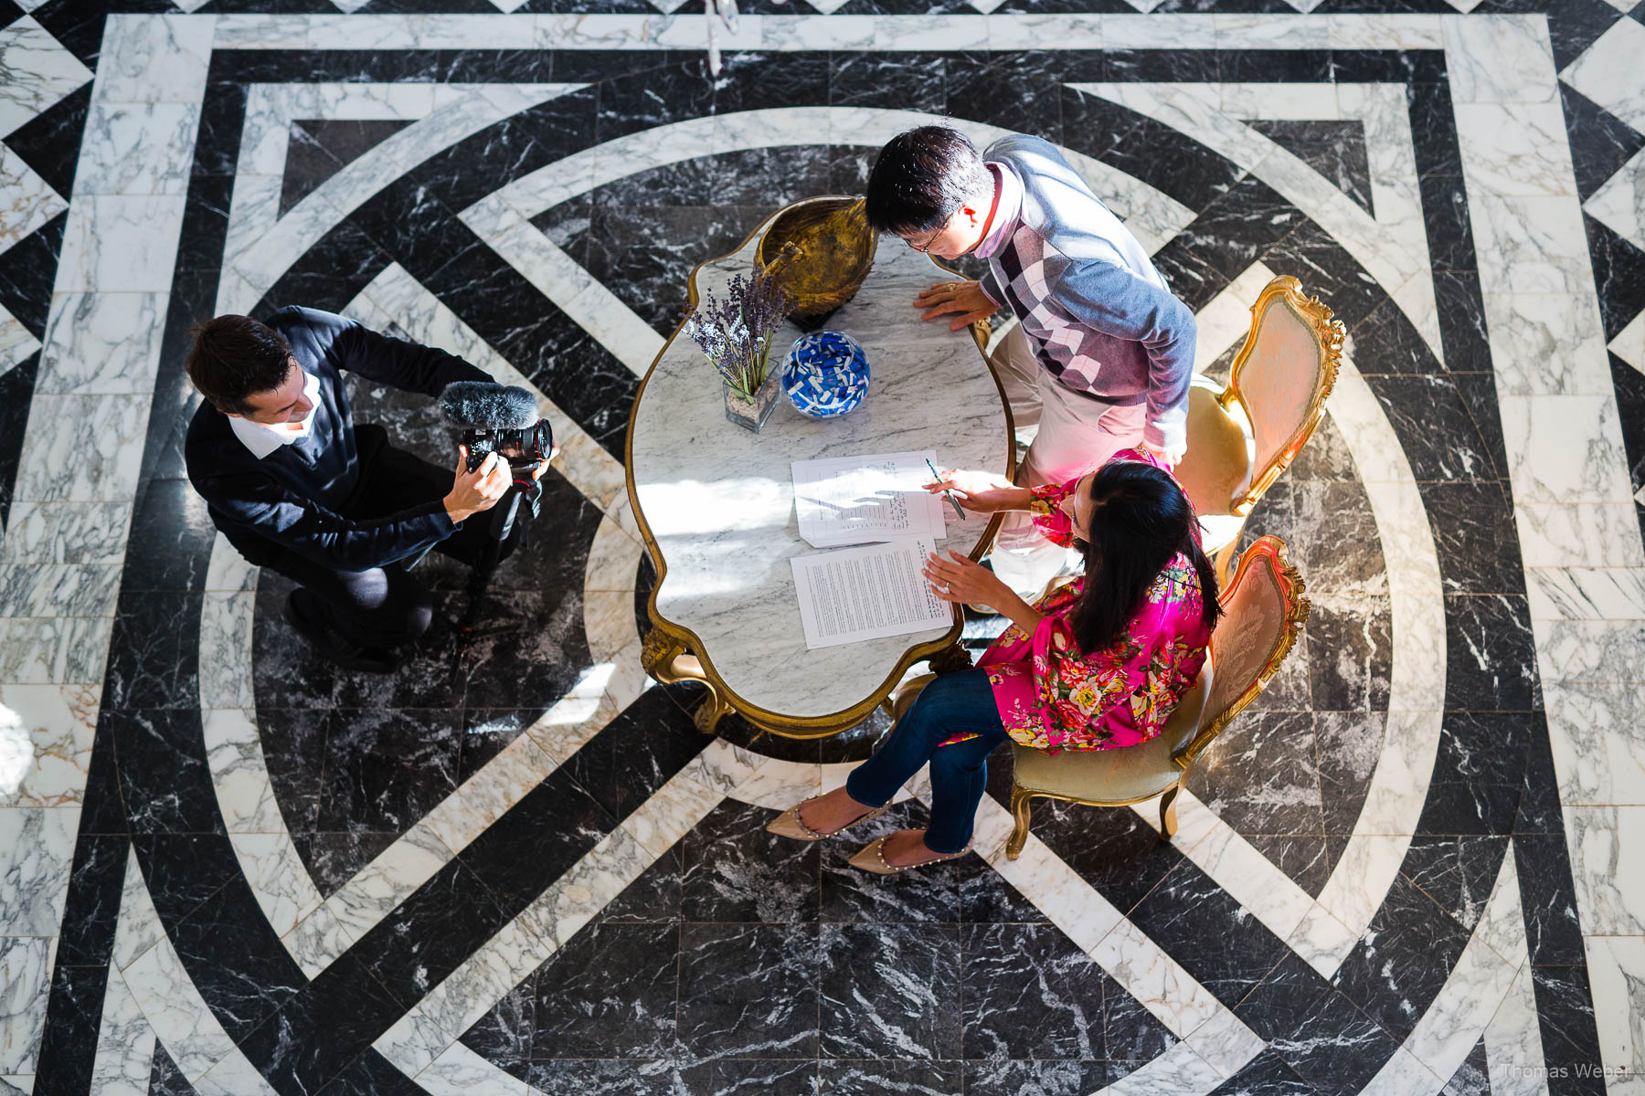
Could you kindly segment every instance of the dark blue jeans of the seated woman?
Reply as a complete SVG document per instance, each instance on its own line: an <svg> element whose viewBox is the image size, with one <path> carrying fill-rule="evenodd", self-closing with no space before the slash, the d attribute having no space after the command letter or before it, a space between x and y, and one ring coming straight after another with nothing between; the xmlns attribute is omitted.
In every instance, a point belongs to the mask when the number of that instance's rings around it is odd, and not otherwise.
<svg viewBox="0 0 1645 1096"><path fill-rule="evenodd" d="M961 733L979 738L941 744ZM1007 738L989 672L944 674L924 687L885 744L850 771L846 794L864 807L882 807L929 761L931 825L924 843L933 853L957 853L971 841L989 779L989 754Z"/></svg>

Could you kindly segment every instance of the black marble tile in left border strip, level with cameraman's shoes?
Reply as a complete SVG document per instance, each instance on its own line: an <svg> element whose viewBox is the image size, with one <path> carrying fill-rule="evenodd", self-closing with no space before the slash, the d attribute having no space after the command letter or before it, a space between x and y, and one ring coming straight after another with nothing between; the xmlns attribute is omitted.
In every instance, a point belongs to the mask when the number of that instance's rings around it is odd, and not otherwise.
<svg viewBox="0 0 1645 1096"><path fill-rule="evenodd" d="M122 590L109 639L104 705L197 708L199 619L199 593Z"/></svg>

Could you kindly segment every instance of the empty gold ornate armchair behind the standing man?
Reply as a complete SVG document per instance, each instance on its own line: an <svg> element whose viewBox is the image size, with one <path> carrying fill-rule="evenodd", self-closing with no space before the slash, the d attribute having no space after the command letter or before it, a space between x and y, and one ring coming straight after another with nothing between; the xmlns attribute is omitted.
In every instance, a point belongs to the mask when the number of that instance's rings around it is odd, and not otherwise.
<svg viewBox="0 0 1645 1096"><path fill-rule="evenodd" d="M1342 324L1295 278L1270 281L1250 314L1227 388L1194 378L1176 467L1224 582L1245 518L1313 437L1342 360Z"/></svg>

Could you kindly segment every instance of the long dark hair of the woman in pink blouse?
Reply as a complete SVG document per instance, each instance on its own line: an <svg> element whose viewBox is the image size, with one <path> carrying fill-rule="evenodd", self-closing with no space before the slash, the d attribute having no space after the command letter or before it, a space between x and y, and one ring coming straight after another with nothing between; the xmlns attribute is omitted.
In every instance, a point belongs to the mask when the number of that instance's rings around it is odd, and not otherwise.
<svg viewBox="0 0 1645 1096"><path fill-rule="evenodd" d="M1199 572L1206 628L1222 615L1217 572L1194 539L1194 508L1170 473L1137 460L1110 462L1091 478L1086 592L1069 618L1081 651L1101 651L1124 634L1148 587L1181 552Z"/></svg>

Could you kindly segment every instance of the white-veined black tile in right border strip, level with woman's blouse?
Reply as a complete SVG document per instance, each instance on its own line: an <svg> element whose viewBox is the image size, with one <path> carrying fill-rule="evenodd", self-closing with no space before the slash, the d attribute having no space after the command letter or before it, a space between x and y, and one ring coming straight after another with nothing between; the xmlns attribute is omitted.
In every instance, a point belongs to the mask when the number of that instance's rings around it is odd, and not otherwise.
<svg viewBox="0 0 1645 1096"><path fill-rule="evenodd" d="M1444 603L1446 708L1538 707L1536 647L1525 598L1448 595Z"/></svg>

